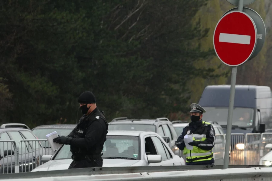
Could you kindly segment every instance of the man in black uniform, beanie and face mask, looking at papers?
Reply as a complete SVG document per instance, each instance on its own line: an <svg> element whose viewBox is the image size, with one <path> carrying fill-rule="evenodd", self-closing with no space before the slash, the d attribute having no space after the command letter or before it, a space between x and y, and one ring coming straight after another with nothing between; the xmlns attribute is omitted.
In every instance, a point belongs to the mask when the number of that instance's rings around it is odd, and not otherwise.
<svg viewBox="0 0 272 181"><path fill-rule="evenodd" d="M102 167L102 149L108 133L104 112L96 107L96 98L90 91L83 92L78 103L84 115L76 128L68 136L59 136L53 141L71 145L73 161L69 169Z"/></svg>

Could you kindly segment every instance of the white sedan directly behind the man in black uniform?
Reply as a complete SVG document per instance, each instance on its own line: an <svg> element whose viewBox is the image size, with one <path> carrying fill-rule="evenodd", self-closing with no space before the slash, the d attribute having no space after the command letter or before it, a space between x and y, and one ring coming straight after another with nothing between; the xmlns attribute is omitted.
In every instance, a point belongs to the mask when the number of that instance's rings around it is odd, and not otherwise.
<svg viewBox="0 0 272 181"><path fill-rule="evenodd" d="M155 132L109 131L103 148L103 167L185 165L168 144ZM66 170L72 162L70 145L64 145L54 155L42 156L44 164L32 170ZM46 162L46 163L45 163Z"/></svg>

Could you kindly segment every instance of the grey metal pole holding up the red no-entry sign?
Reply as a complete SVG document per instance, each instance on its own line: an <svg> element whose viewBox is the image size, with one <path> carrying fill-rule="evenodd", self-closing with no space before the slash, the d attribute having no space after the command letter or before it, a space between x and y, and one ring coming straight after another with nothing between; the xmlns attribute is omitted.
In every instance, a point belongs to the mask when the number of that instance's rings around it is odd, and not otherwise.
<svg viewBox="0 0 272 181"><path fill-rule="evenodd" d="M244 0L239 0L238 11L243 11ZM237 67L232 67L232 80L229 95L228 104L228 122L227 122L227 134L226 134L226 144L225 144L225 157L224 157L224 169L228 168L229 164L229 146L231 144L231 134L232 134L232 115L234 106L234 94L235 94L235 84L236 84Z"/></svg>

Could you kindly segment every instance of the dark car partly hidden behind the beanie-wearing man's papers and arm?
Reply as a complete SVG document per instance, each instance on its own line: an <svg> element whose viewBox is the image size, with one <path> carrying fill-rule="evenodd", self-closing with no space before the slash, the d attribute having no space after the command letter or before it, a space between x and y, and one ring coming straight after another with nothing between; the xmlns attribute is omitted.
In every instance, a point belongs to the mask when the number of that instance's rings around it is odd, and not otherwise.
<svg viewBox="0 0 272 181"><path fill-rule="evenodd" d="M67 136L75 127L76 125L72 124L40 125L33 128L31 131L38 139L46 139L45 136L54 131L56 131L58 135ZM50 148L47 141L42 141L41 144L43 145L43 148L45 148L46 154L53 154L54 151Z"/></svg>

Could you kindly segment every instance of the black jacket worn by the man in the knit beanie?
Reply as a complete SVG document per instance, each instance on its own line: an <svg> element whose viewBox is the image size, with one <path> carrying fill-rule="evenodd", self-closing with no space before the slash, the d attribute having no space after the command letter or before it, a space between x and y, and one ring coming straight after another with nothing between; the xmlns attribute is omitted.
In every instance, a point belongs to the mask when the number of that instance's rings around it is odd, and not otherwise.
<svg viewBox="0 0 272 181"><path fill-rule="evenodd" d="M107 129L108 123L98 108L89 115L84 115L68 135L72 138L70 145L73 155L100 155L108 133Z"/></svg>

